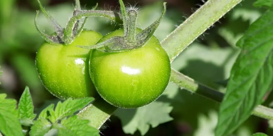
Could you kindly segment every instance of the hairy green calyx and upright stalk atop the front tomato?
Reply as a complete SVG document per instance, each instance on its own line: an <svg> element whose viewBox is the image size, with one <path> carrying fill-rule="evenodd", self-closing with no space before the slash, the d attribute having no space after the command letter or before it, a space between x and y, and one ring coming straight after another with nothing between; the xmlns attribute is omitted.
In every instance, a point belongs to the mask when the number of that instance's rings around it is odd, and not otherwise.
<svg viewBox="0 0 273 136"><path fill-rule="evenodd" d="M137 9L125 7L122 0L120 1L120 9L122 13L122 21L124 27L124 36L114 36L108 40L98 43L94 46L78 46L86 49L97 49L101 52L126 52L139 49L150 40L159 23L161 22L166 12L166 2L163 3L162 15L153 22L150 26L136 33Z"/></svg>

